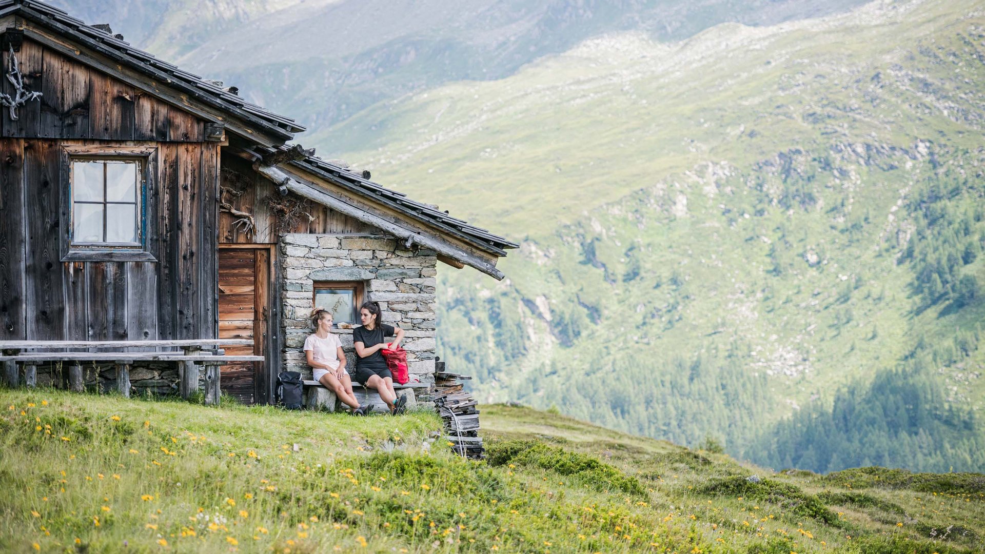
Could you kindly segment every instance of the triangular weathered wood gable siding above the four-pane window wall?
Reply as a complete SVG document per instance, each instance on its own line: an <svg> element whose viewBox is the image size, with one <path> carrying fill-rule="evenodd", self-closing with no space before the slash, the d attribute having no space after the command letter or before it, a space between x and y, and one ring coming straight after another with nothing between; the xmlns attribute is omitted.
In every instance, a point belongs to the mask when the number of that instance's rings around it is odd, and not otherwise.
<svg viewBox="0 0 985 554"><path fill-rule="evenodd" d="M204 141L205 122L63 54L25 39L16 52L24 84L42 94L18 108L3 109L0 135L20 138ZM7 50L3 67L10 67ZM2 80L4 93L14 86Z"/></svg>

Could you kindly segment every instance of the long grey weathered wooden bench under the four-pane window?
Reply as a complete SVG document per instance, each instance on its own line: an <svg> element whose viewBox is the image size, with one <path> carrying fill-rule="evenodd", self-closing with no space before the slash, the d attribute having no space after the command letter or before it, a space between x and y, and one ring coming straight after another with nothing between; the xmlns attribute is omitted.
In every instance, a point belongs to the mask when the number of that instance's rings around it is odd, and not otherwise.
<svg viewBox="0 0 985 554"><path fill-rule="evenodd" d="M0 341L0 362L4 365L3 380L8 386L18 386L18 362L25 366L25 384L37 383L38 362L68 362L69 387L84 389L80 362L111 361L116 366L116 388L124 397L130 396L130 366L134 362L178 362L178 389L182 398L198 390L198 366L205 366L205 403L215 404L220 398L219 366L230 362L263 362L263 356L226 356L219 345L249 346L250 339L179 339L179 340L8 340ZM214 347L209 350L208 347ZM169 352L24 352L25 350L61 350L70 348L130 349L171 348Z"/></svg>

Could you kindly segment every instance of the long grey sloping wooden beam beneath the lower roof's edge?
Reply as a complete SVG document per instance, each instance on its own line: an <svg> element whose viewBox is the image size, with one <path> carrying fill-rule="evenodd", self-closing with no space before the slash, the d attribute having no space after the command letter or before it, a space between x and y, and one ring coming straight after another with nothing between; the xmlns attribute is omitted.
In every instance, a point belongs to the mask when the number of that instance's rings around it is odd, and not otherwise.
<svg viewBox="0 0 985 554"><path fill-rule="evenodd" d="M329 208L357 219L362 223L371 225L386 231L387 233L391 233L398 239L411 239L414 242L430 248L439 254L471 265L472 267L475 267L479 271L482 271L497 280L502 280L502 278L505 277L505 275L496 269L495 265L487 259L465 251L462 248L453 246L448 242L441 241L436 237L426 235L423 231L408 229L407 227L383 219L376 214L367 212L341 198L319 190L319 187L313 182L304 182L300 180L300 177L297 175L286 173L280 168L270 168L260 165L255 165L254 170L277 184L287 186L288 190L299 196L314 200L319 204L328 206Z"/></svg>

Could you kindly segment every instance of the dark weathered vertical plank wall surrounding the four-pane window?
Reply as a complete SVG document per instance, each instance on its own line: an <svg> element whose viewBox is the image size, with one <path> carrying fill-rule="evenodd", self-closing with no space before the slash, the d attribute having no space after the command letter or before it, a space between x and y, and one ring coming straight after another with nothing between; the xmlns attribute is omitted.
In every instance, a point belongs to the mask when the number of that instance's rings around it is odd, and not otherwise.
<svg viewBox="0 0 985 554"><path fill-rule="evenodd" d="M0 138L0 338L216 336L216 143L153 147L148 250L157 261L60 261L71 206L63 147L134 142Z"/></svg>

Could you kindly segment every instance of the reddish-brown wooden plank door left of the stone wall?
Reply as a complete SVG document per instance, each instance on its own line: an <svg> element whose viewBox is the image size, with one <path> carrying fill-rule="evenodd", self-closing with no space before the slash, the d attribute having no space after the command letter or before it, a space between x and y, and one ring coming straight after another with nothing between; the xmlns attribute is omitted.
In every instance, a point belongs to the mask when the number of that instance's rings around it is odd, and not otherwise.
<svg viewBox="0 0 985 554"><path fill-rule="evenodd" d="M251 338L253 346L223 346L230 355L265 356L268 325L270 251L267 248L220 248L219 338ZM244 404L258 400L262 363L222 367L221 388Z"/></svg>

